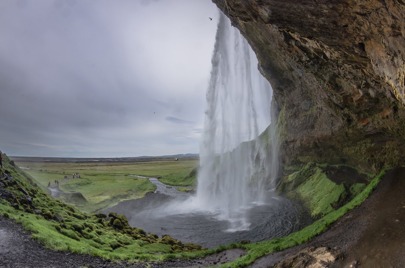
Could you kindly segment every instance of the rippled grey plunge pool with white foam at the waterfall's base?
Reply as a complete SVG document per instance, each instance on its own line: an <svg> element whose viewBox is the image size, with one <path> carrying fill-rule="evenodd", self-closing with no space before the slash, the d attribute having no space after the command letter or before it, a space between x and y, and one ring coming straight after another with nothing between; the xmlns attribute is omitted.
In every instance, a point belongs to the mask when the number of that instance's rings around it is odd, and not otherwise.
<svg viewBox="0 0 405 268"><path fill-rule="evenodd" d="M280 198L274 191L266 192L264 202L252 202L233 215L233 220L228 220L215 211L195 209L192 195L174 187L166 188L157 179L150 181L157 185L157 192L173 199L163 206L133 213L130 225L159 236L168 234L183 243L192 242L211 248L242 239L258 242L285 236L298 224L299 213L294 204Z"/></svg>

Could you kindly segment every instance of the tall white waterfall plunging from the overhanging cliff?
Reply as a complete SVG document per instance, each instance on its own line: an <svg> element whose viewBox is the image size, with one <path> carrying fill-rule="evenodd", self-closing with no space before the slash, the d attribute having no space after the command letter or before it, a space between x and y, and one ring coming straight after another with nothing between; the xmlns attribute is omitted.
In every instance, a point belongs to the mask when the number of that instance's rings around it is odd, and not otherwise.
<svg viewBox="0 0 405 268"><path fill-rule="evenodd" d="M277 174L274 124L266 128L272 89L255 53L221 12L211 62L193 202L232 222L230 231L247 230L245 211L262 202Z"/></svg>

